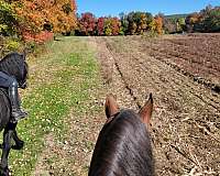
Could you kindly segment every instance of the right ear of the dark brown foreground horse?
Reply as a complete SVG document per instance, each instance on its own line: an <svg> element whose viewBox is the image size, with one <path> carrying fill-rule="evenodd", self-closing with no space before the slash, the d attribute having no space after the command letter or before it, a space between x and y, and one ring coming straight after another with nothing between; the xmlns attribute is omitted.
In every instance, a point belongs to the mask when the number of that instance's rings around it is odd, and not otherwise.
<svg viewBox="0 0 220 176"><path fill-rule="evenodd" d="M152 112L153 112L153 97L152 94L150 94L150 98L146 101L146 103L142 107L142 109L140 110L139 114L142 119L142 121L148 125L150 124L150 120L152 117Z"/></svg>

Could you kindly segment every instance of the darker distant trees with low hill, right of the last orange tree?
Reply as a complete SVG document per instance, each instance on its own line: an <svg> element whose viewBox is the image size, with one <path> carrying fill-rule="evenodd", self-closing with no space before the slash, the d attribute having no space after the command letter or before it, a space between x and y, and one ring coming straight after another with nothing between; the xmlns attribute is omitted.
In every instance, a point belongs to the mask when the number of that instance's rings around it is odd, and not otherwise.
<svg viewBox="0 0 220 176"><path fill-rule="evenodd" d="M190 14L158 15L163 19L164 33L220 32L220 7L207 6Z"/></svg>

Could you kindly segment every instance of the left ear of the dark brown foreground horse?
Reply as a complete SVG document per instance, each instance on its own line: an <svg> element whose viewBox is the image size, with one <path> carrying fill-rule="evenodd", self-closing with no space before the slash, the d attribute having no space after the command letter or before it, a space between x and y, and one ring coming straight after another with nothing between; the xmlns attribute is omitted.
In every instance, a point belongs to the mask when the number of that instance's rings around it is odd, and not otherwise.
<svg viewBox="0 0 220 176"><path fill-rule="evenodd" d="M119 106L113 95L108 95L105 102L105 110L107 118L111 118L119 112Z"/></svg>

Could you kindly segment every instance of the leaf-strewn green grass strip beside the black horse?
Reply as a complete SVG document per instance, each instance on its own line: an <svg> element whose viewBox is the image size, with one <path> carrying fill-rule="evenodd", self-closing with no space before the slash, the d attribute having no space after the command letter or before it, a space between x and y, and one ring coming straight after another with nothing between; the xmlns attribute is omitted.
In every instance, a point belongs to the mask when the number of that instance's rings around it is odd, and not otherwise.
<svg viewBox="0 0 220 176"><path fill-rule="evenodd" d="M13 175L31 175L44 148L44 138L53 132L62 139L72 109L78 116L89 110L89 91L99 82L99 68L92 51L80 37L64 37L47 44L47 54L30 61L30 89L23 94L29 118L19 122L18 133L25 142L22 151L11 151Z"/></svg>

